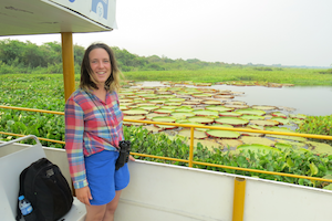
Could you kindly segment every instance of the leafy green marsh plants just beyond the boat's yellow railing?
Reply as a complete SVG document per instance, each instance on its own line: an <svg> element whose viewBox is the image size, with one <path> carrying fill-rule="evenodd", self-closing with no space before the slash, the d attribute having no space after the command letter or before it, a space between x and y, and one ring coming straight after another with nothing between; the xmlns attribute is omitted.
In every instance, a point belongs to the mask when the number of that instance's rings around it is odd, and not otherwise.
<svg viewBox="0 0 332 221"><path fill-rule="evenodd" d="M63 112L64 97L62 81L62 75L60 74L30 74L29 77L27 77L25 74L0 75L1 105ZM79 76L76 76L76 81L79 81ZM331 135L330 125L331 116L308 116L305 124L299 126L299 130L302 133ZM133 143L133 151L135 152L173 158L188 158L189 147L187 138L180 136L169 137L165 133L152 134L148 129L137 126L125 126L124 129L126 139ZM64 120L63 116L59 115L0 109L0 130L24 135L34 134L39 137L64 140ZM14 138L7 135L0 136L2 140ZM44 146L63 148L63 145L60 144L46 141L42 141L42 144ZM220 148L207 147L204 141L195 144L194 160L196 161L324 178L330 178L332 175L331 154L318 154L314 151L305 151L302 148L293 148L292 143L274 145L274 149L278 149L278 151L248 149L237 152L227 148L221 150ZM142 159L187 166L183 162L160 159ZM215 167L195 167L319 188L331 187L329 183L303 179L258 175Z"/></svg>

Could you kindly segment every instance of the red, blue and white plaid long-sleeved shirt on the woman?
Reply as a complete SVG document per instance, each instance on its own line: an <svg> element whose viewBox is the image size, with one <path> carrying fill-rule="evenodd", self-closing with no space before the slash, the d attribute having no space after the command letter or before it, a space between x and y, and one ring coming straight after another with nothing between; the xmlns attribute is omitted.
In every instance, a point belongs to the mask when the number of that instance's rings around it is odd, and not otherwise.
<svg viewBox="0 0 332 221"><path fill-rule="evenodd" d="M115 92L106 103L92 93L76 90L65 104L65 150L74 188L87 186L84 156L104 149L116 151L123 140L123 114Z"/></svg>

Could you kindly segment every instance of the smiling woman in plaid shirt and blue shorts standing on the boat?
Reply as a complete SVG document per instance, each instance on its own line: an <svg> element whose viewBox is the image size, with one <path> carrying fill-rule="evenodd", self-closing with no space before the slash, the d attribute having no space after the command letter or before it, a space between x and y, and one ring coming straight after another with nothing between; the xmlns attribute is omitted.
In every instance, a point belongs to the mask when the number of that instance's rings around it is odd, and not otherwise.
<svg viewBox="0 0 332 221"><path fill-rule="evenodd" d="M115 170L124 139L118 88L120 70L111 48L90 45L80 88L65 104L65 149L76 198L86 206L85 221L114 220L121 190L129 182L126 164Z"/></svg>

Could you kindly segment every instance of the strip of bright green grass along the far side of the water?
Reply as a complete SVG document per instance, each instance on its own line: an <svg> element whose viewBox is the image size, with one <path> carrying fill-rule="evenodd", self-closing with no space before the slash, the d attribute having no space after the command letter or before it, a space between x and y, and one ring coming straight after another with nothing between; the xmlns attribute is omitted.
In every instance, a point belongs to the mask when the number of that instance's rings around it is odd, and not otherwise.
<svg viewBox="0 0 332 221"><path fill-rule="evenodd" d="M216 82L269 82L295 85L332 85L332 74L320 74L321 70L310 69L274 69L273 71L257 71L252 67L220 67L198 71L145 71L125 72L131 81L193 81L203 83Z"/></svg>

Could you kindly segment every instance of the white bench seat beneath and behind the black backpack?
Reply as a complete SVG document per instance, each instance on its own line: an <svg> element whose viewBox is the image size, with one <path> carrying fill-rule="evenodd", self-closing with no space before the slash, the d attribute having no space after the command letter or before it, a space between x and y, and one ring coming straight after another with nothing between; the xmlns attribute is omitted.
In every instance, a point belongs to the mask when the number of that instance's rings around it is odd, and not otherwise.
<svg viewBox="0 0 332 221"><path fill-rule="evenodd" d="M9 143L0 144L0 149L13 143L33 138L37 145L0 157L0 214L1 220L14 221L18 207L19 177L21 171L35 160L46 157L45 152L33 135L29 135ZM86 209L76 198L70 212L61 218L62 221L84 221Z"/></svg>

